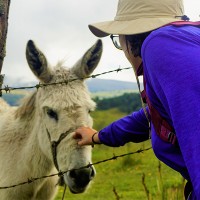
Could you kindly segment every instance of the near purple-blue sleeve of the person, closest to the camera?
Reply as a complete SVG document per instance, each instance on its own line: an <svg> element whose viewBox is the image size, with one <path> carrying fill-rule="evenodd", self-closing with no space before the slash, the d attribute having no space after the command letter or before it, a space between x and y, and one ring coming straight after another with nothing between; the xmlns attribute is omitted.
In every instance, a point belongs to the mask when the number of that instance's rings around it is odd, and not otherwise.
<svg viewBox="0 0 200 200"><path fill-rule="evenodd" d="M142 55L150 100L168 114L195 195L200 197L200 29L152 35Z"/></svg>

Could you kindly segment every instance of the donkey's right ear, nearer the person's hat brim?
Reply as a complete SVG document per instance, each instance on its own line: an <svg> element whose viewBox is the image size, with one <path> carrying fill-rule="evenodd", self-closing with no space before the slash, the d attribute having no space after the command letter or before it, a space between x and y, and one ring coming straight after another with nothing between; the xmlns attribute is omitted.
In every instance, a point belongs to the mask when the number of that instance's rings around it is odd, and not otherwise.
<svg viewBox="0 0 200 200"><path fill-rule="evenodd" d="M97 67L103 51L101 40L97 42L83 55L72 68L79 78L87 78Z"/></svg>

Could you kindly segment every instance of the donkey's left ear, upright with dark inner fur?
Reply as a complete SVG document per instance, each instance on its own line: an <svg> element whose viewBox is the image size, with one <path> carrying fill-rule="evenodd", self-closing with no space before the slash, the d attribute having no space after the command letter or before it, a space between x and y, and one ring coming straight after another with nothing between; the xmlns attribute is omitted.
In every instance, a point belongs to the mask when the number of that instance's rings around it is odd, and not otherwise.
<svg viewBox="0 0 200 200"><path fill-rule="evenodd" d="M30 69L41 82L48 83L51 80L51 70L48 68L46 57L32 40L29 40L26 46L26 59Z"/></svg>

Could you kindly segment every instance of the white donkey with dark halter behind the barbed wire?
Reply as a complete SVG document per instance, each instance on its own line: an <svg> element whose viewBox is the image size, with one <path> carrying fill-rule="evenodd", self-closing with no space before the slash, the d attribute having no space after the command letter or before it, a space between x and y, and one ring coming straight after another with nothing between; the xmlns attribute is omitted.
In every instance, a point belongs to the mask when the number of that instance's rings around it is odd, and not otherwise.
<svg viewBox="0 0 200 200"><path fill-rule="evenodd" d="M73 193L85 191L95 176L91 146L78 146L72 135L79 126L92 126L89 112L95 103L84 79L96 68L101 54L98 40L74 67L65 69L58 64L51 69L33 41L27 43L29 67L40 83L48 86L26 97L18 108L0 99L0 187L70 170L64 174L65 184ZM68 83L51 84L63 81ZM88 164L88 168L72 170ZM0 199L50 200L56 195L57 182L55 176L0 189Z"/></svg>

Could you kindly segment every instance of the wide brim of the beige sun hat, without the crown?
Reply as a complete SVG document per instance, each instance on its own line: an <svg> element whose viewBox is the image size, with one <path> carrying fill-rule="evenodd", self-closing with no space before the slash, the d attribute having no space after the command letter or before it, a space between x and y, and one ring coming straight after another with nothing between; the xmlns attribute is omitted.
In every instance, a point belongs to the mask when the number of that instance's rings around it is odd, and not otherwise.
<svg viewBox="0 0 200 200"><path fill-rule="evenodd" d="M130 21L106 21L90 24L90 31L97 37L106 37L111 34L134 35L155 30L171 22L182 21L177 18L143 18Z"/></svg>

